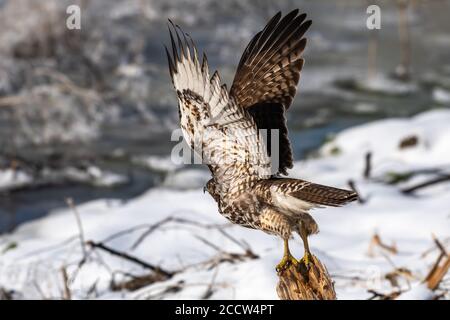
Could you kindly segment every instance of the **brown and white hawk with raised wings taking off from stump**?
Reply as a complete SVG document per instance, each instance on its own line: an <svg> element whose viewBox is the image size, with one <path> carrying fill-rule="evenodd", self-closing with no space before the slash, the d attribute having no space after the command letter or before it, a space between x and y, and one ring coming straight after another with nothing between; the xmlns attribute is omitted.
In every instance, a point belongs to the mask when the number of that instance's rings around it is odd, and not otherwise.
<svg viewBox="0 0 450 320"><path fill-rule="evenodd" d="M277 13L245 48L228 91L217 71L210 76L206 55L200 62L193 40L169 20L172 50L166 47L166 53L180 125L211 171L205 190L231 222L284 240L278 271L290 264L308 267L308 236L318 232L311 209L357 198L352 191L282 177L293 165L285 113L297 90L310 26L299 10ZM293 233L304 244L299 261L289 251Z"/></svg>

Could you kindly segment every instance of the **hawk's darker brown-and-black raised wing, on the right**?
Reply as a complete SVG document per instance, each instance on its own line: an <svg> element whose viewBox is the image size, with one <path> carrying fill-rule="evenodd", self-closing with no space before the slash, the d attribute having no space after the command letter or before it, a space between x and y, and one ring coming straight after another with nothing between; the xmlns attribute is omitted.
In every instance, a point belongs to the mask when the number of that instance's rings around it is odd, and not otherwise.
<svg viewBox="0 0 450 320"><path fill-rule="evenodd" d="M311 25L306 14L294 10L281 18L277 13L248 44L242 55L230 94L246 108L259 129L279 130L278 173L292 168L292 149L285 111L297 91L306 46L305 32ZM268 130L270 133L270 130ZM267 150L272 146L268 136Z"/></svg>

